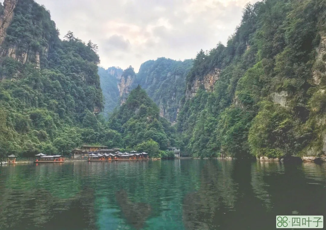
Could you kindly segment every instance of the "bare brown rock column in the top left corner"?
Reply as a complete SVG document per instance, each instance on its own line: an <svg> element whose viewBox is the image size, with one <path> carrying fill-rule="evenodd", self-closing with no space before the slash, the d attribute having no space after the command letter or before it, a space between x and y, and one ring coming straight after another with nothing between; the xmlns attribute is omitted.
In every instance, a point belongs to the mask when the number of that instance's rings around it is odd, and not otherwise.
<svg viewBox="0 0 326 230"><path fill-rule="evenodd" d="M3 3L3 12L0 16L0 45L2 45L7 35L7 28L14 16L14 9L18 0L5 0Z"/></svg>

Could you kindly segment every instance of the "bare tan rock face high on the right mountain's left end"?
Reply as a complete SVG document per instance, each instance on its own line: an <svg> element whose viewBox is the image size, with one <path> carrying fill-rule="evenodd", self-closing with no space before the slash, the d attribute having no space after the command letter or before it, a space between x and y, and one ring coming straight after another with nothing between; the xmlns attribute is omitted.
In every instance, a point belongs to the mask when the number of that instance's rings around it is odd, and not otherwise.
<svg viewBox="0 0 326 230"><path fill-rule="evenodd" d="M221 70L216 68L206 74L202 79L196 77L196 79L191 83L191 87L187 88L186 90L186 98L193 98L196 95L200 85L203 85L206 91L213 91L214 84L218 80L220 73Z"/></svg>

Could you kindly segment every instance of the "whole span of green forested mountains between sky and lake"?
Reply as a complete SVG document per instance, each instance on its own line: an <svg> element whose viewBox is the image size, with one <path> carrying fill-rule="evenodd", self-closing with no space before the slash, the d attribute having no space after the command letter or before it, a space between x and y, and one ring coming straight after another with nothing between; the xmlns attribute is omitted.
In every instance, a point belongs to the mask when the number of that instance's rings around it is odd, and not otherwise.
<svg viewBox="0 0 326 230"><path fill-rule="evenodd" d="M195 157L325 155L325 10L325 0L247 4L226 45L194 60L150 60L136 74L98 68L91 41L72 32L60 40L44 7L6 0L0 154L101 143L152 156L167 156L171 145Z"/></svg>

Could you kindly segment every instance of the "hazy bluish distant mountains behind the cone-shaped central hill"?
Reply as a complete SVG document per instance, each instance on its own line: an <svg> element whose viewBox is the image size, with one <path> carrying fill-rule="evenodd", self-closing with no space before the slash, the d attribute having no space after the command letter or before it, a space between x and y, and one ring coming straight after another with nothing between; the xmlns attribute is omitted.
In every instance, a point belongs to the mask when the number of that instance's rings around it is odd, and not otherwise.
<svg viewBox="0 0 326 230"><path fill-rule="evenodd" d="M117 104L125 102L130 91L139 84L159 106L160 116L175 122L181 107L181 98L185 95L186 75L192 63L192 59L175 61L158 58L141 64L137 74L131 66L123 73L115 67L108 70L99 68L98 74L105 98L105 114L111 112Z"/></svg>

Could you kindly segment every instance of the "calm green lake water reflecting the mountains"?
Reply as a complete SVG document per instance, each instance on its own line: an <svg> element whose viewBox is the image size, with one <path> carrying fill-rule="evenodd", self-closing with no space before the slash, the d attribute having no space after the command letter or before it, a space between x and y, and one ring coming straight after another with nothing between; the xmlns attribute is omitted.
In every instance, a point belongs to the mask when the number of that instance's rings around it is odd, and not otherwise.
<svg viewBox="0 0 326 230"><path fill-rule="evenodd" d="M269 230L326 216L326 164L158 160L0 166L0 229Z"/></svg>

